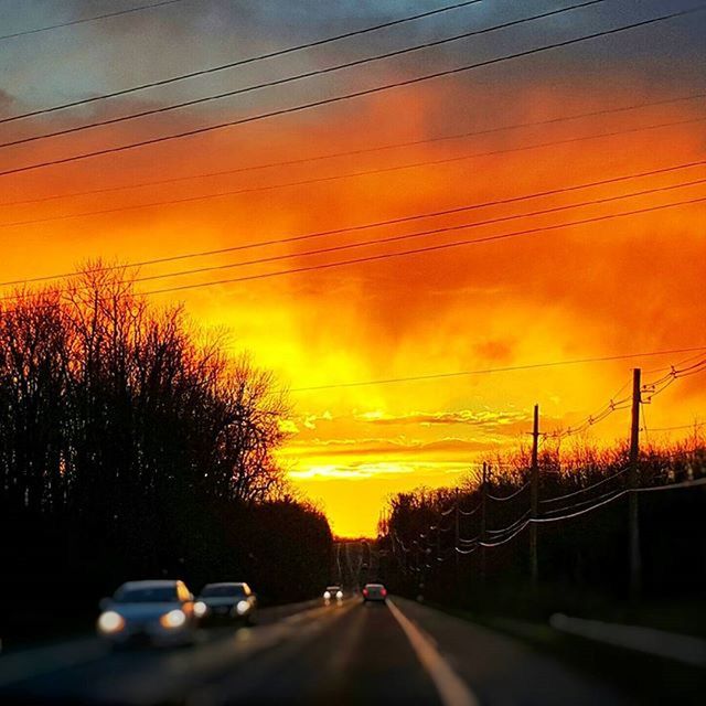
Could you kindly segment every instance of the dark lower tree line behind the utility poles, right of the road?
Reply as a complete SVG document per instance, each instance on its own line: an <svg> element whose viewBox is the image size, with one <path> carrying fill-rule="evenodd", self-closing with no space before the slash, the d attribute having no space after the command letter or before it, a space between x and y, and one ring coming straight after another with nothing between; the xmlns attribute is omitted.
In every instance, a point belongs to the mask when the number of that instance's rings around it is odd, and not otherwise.
<svg viewBox="0 0 706 706"><path fill-rule="evenodd" d="M539 498L567 498L541 503L541 509L547 516L570 515L617 495L625 488L621 471L628 459L627 446L577 445L564 452L545 448L538 457ZM556 610L600 611L628 599L627 495L537 526L535 590L530 532L522 528L530 509L530 451L499 454L488 468L484 488L480 472L473 472L457 488L419 489L389 499L378 526L378 545L393 589L475 610L545 618ZM639 477L642 486L706 477L703 434L695 430L682 442L644 447ZM639 503L643 602L696 602L706 588L706 486L642 493ZM499 532L505 527L511 530ZM473 538L498 546L483 547Z"/></svg>

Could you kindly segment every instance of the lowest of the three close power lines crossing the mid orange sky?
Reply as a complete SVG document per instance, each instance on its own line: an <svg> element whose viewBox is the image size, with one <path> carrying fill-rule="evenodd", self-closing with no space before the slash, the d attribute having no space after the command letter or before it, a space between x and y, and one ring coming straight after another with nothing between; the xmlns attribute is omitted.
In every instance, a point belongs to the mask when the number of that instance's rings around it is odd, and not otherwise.
<svg viewBox="0 0 706 706"><path fill-rule="evenodd" d="M307 266L297 267L297 268L292 268L292 269L277 270L277 271L274 271L274 272L261 272L261 274L258 274L258 275L248 275L248 276L245 276L245 277L235 277L235 278L213 280L213 281L207 281L207 282L197 282L197 284L193 284L193 285L180 285L180 286L176 286L176 287L168 287L168 288L164 288L164 289L148 290L148 291L145 291L142 293L145 293L145 295L161 295L161 293L167 293L167 292L183 291L183 290L186 290L186 289L201 289L203 287L214 287L214 286L217 286L217 285L228 285L228 284L235 284L235 282L254 281L254 280L258 280L258 279L269 279L270 277L281 277L284 275L297 275L297 274L300 274L300 272L309 272L309 271L315 271L315 270L331 269L331 268L334 268L334 267L345 267L345 266L349 266L349 265L357 265L357 264L362 264L362 263L373 263L373 261L385 260L385 259L397 258L397 257L422 255L422 254L426 254L426 253L432 253L432 252L437 252L437 250L447 250L447 249L457 248L457 247L463 247L463 246L469 246L469 245L478 245L478 244L481 244L481 243L491 243L491 242L503 240L503 239L507 239L507 238L522 237L522 236L533 235L533 234L536 234L536 233L545 233L545 232L548 232L548 231L556 231L556 229L566 228L566 227L570 227L570 226L586 225L586 224L589 224L589 223L600 223L602 221L610 221L612 218L622 218L622 217L628 217L628 216L643 214L643 213L653 213L655 211L662 211L664 208L674 208L674 207L677 207L677 206L692 205L692 204L696 204L696 203L703 203L705 201L706 201L706 196L698 196L696 199L687 199L687 200L683 200L683 201L676 201L676 202L672 202L672 203L667 203L667 204L662 204L662 205L659 205L659 206L650 206L650 207L645 207L645 208L635 208L633 211L624 211L622 213L617 213L617 214L595 216L592 218L582 218L580 221L571 221L571 222L568 222L568 223L560 223L560 224L557 224L557 225L543 226L543 227L538 227L538 228L527 228L525 231L516 231L514 233L504 233L504 234L501 234L501 235L491 235L491 236L485 236L485 237L482 237L482 238L468 239L468 240L456 240L453 243L445 243L442 245L429 245L429 246L426 246L426 247L419 247L419 248L414 248L414 249L409 249L409 250L400 250L400 252L397 252L397 253L383 253L383 254L379 254L379 255L368 255L368 256L365 256L365 257L352 258L352 259L347 259L347 260L339 260L339 261L334 261L334 263L321 263L319 265L307 265Z"/></svg>

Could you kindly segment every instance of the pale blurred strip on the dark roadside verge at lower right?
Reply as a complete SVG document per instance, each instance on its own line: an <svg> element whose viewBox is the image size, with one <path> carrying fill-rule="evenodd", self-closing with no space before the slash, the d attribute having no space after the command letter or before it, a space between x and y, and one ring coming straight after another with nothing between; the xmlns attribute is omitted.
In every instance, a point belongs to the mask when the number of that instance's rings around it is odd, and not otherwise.
<svg viewBox="0 0 706 706"><path fill-rule="evenodd" d="M561 613L552 616L549 624L555 630L580 638L667 657L685 664L706 666L706 641L691 635L678 635L641 625L620 625L599 620L569 618Z"/></svg>

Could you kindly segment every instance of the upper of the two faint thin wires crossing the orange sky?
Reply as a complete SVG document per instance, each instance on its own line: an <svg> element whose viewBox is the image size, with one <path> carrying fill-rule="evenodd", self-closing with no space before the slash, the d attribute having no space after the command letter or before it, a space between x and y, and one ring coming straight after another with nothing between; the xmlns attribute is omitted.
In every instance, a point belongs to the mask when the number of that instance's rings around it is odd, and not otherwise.
<svg viewBox="0 0 706 706"><path fill-rule="evenodd" d="M648 108L648 107L655 107L655 106L662 106L662 105L668 105L668 104L674 104L674 103L682 103L682 101L686 101L686 100L697 100L700 98L706 98L706 93L697 93L697 94L691 94L688 96L678 96L675 98L666 98L664 100L652 100L652 101L646 101L646 103L638 103L638 104L632 104L629 106L621 106L621 107L617 107L617 108L602 108L600 110L591 110L588 113L578 113L575 115L569 115L569 116L560 116L560 117L556 117L556 118L548 118L545 120L532 120L532 121L527 121L527 122L517 122L515 125L506 125L506 126L500 126L500 127L494 127L494 128L486 128L486 129L482 129L482 130L472 130L472 131L468 131L468 132L457 132L457 133L452 133L452 135L441 135L441 136L437 136L437 137L431 137L431 138L426 138L426 139L421 139L421 140L410 140L410 141L406 141L406 142L393 142L393 143L388 143L388 145L381 145L377 147L368 147L368 148L362 148L362 149L356 149L356 150L347 150L347 151L342 151L342 152L331 152L329 154L319 154L319 156L314 156L314 157L304 157L304 158L299 158L299 159L292 159L292 160L284 160L284 161L279 161L279 162L267 162L267 163L263 163L263 164L253 164L253 165L248 165L248 167L239 167L236 169L227 169L227 170L220 170L220 171L212 171L212 172L202 172L199 174L188 174L184 176L172 176L170 179L159 179L159 180L151 180L151 181L143 181L143 182L138 182L135 184L126 184L126 185L121 185L121 186L106 186L104 189L92 189L92 190L86 190L86 191L75 191L75 192L69 192L69 193L65 193L65 194L50 194L46 196L40 196L38 199L25 199L22 201L6 201L4 203L0 202L0 206L21 206L21 205L29 205L29 204L35 204L35 203L45 203L47 201L56 201L58 199L73 199L73 197L77 197L77 196L89 196L89 195L94 195L94 194L104 194L104 193L111 193L111 192L116 192L116 191L126 191L129 189L141 189L143 186L157 186L160 184L173 184L173 183L178 183L178 182L183 182L183 181L192 181L194 179L206 179L210 176L225 176L225 175L229 175L229 174L239 174L239 173L245 173L245 172L252 172L252 171L260 171L260 170L265 170L265 169L274 169L274 168L279 168L279 167L295 167L298 164L306 164L306 163L310 163L310 162L318 162L318 161L323 161L323 160L328 160L328 159L336 159L340 157L356 157L360 154L368 154L368 153L373 153L373 152L381 152L384 150L392 150L392 149L400 149L400 148L406 148L406 147L417 147L419 145L429 145L429 143L434 143L434 142L442 142L442 141L449 141L449 140L460 140L460 139L464 139L464 138L469 138L469 137L479 137L479 136L483 136L483 135L492 135L495 132L503 132L505 130L516 130L516 129L521 129L521 128L527 128L527 127L539 127L539 126L545 126L545 125L552 125L552 124L557 124L557 122L564 122L564 121L568 121L568 120L577 120L580 118L588 118L588 117L596 117L596 116L602 116L602 115L611 115L611 114L616 114L616 113L625 113L628 110L635 110L639 108ZM661 125L656 125L656 126L646 126L644 128L637 128L637 129L644 129L644 130L649 130L649 129L656 129L656 128L661 128L661 127L671 127L673 125L683 125L682 121L678 122L668 122L668 124L661 124ZM634 129L634 128L633 128ZM597 136L588 136L585 139L592 139L593 137L612 137L613 135L622 135L623 132L610 132L610 133L601 133L601 135L597 135ZM542 145L544 146L544 145ZM526 148L526 149L533 149L534 146ZM525 149L525 148L520 148L520 149ZM506 151L511 151L511 150L501 150L501 151L495 151L492 153L479 153L475 154L474 157L486 157L490 154L496 154L496 153L505 153ZM368 173L368 172L366 172ZM310 181L310 182L306 182L306 183L315 183L315 181ZM300 185L301 182L295 182L291 185ZM290 185L290 184L285 184L285 185ZM281 185L276 185L272 188L281 188Z"/></svg>

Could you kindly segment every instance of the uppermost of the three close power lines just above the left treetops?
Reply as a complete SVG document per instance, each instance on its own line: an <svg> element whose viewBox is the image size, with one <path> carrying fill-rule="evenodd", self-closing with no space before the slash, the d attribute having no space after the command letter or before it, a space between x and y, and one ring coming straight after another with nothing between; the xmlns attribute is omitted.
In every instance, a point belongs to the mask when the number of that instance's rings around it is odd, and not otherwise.
<svg viewBox="0 0 706 706"><path fill-rule="evenodd" d="M628 181L628 180L633 180L633 179L641 179L644 176L654 176L657 174L665 174L665 173L670 173L670 172L674 172L674 171L681 171L683 169L691 169L694 167L702 167L706 164L706 160L699 160L699 161L695 161L695 162L684 162L684 163L680 163L680 164L672 164L668 167L661 167L661 168L656 168L656 169L652 169L652 170L648 170L648 171L642 171L642 172L632 172L630 174L622 174L620 176L611 176L609 179L601 179L601 180L597 180L597 181L590 181L590 182L582 182L579 184L571 184L569 186L560 186L557 189L550 189L550 190L545 190L545 191L539 191L539 192L534 192L534 193L528 193L528 194L522 194L520 196L511 196L509 199L496 199L493 201L485 201L485 202L481 202L481 203L473 203L473 204L466 204L466 205L460 205L460 206L454 206L452 208L445 208L441 211L432 211L432 212L427 212L427 213L420 213L420 214L414 214L414 215L409 215L409 216L400 216L397 218L388 218L386 221L376 221L376 222L372 222L372 223L364 223L364 224L360 224L360 225L355 225L355 226L347 226L347 227L342 227L342 228L333 228L333 229L328 229L328 231L317 231L313 233L304 233L301 235L295 235L295 236L290 236L290 237L285 237L285 238L271 238L268 240L260 240L260 242L256 242L256 243L247 243L247 244L243 244L243 245L235 245L235 246L231 246L231 247L225 247L225 248L217 248L217 249L212 249L212 250L201 250L201 252L196 252L196 253L182 253L180 255L172 255L172 256L168 256L168 257L161 257L161 258L152 258L152 259L147 259L147 260L140 260L140 261L136 261L136 263L128 263L127 265L114 265L114 266L105 266L105 267L99 267L96 268L96 270L94 271L115 271L115 270L124 270L126 268L136 268L136 267L143 267L143 266L149 266L149 265L159 265L159 264L164 264L164 263L173 263L173 261L179 261L179 260L184 260L184 259L192 259L195 257L207 257L207 256L213 256L213 255L223 255L226 253L234 253L234 252L239 252L239 250L248 250L252 248L257 248L257 247L265 247L265 246L270 246L270 245L281 245L281 244L287 244L287 243L295 243L295 242L301 242L301 240L309 240L309 239L313 239L313 238L319 238L319 237L325 237L325 236L330 236L330 235L339 235L342 233L352 233L352 232L356 232L356 231L365 231L368 228L376 228L376 227L382 227L382 226L387 226L387 225L397 225L400 223L409 223L413 221L418 221L418 220L422 220L422 218L431 218L431 217L438 217L438 216L446 216L446 215L452 215L452 214L457 214L457 213L464 213L468 211L475 211L479 208L484 208L484 207L489 207L489 206L498 206L498 205L507 205L507 204L512 204L512 203L518 203L522 201L526 201L530 199L539 199L539 197L544 197L544 196L550 196L550 195L558 195L558 194L563 194L563 193L569 193L573 191L578 191L581 189L589 189L589 188L593 188L593 186L602 186L602 185L607 185L607 184L614 184L614 183L620 183L623 181ZM1 226L2 224L0 224ZM12 285L29 285L29 284L35 284L35 282L41 282L41 281L49 281L49 280L55 280L55 279L66 279L69 277L75 277L77 275L81 275L79 271L71 271L71 272L63 272L63 274L56 274L56 275L43 275L40 277L33 277L33 278L26 278L26 279L14 279L14 280L7 280L7 281L2 281L0 282L0 287L8 287L8 286L12 286Z"/></svg>

